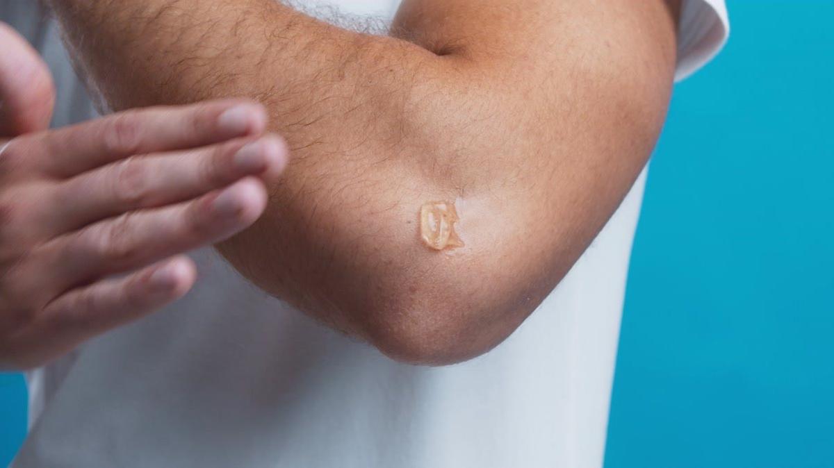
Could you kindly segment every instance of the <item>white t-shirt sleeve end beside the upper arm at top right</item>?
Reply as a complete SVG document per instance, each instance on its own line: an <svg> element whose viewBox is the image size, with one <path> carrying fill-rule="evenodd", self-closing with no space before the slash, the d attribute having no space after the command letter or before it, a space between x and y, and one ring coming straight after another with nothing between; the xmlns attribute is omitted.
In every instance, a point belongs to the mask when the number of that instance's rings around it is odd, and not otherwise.
<svg viewBox="0 0 834 468"><path fill-rule="evenodd" d="M724 0L684 0L678 27L679 82L706 65L730 36L730 18Z"/></svg>

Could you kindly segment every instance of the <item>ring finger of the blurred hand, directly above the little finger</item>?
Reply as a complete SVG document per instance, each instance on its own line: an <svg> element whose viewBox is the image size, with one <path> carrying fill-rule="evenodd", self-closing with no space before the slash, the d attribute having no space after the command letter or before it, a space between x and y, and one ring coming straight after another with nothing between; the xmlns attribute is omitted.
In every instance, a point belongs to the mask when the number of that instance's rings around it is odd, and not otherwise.
<svg viewBox="0 0 834 468"><path fill-rule="evenodd" d="M247 177L190 202L130 212L38 247L28 264L46 271L48 293L133 271L223 241L252 225L266 207L263 182Z"/></svg>

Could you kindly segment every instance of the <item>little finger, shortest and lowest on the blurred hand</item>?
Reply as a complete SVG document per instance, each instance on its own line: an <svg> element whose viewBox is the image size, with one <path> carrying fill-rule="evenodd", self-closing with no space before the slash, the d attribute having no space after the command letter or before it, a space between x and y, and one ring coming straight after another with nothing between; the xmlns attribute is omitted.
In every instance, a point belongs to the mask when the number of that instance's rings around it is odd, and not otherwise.
<svg viewBox="0 0 834 468"><path fill-rule="evenodd" d="M93 336L176 301L191 289L196 276L193 261L176 256L129 276L68 291L39 312L28 328L25 341L38 343L37 356L23 354L33 362L60 356Z"/></svg>

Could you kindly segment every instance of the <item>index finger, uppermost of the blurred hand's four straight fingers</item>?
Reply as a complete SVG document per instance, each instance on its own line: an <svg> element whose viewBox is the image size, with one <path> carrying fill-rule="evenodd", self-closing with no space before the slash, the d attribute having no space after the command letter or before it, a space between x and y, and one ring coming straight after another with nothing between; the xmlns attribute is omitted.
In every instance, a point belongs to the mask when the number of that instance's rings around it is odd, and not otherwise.
<svg viewBox="0 0 834 468"><path fill-rule="evenodd" d="M230 138L259 135L266 111L255 102L224 100L187 107L150 107L93 122L43 132L30 154L54 177L73 177L125 157L202 147Z"/></svg>

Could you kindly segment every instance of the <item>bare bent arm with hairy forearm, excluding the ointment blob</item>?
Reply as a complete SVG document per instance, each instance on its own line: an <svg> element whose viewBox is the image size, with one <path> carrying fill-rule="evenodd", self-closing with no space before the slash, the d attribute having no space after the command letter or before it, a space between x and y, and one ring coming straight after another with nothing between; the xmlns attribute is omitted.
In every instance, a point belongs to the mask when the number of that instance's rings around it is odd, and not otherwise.
<svg viewBox="0 0 834 468"><path fill-rule="evenodd" d="M400 361L489 351L558 285L666 117L679 2L405 0L388 36L272 0L50 0L116 110L244 96L292 162L219 251ZM420 241L455 202L464 246Z"/></svg>

